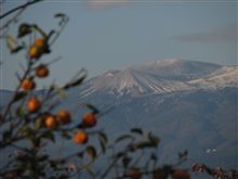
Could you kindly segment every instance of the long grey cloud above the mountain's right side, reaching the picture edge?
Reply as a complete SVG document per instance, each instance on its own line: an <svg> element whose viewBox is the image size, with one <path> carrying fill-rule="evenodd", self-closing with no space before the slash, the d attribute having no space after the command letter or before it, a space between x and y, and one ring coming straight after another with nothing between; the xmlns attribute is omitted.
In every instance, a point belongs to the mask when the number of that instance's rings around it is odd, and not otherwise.
<svg viewBox="0 0 238 179"><path fill-rule="evenodd" d="M184 42L204 42L204 43L237 41L238 40L237 27L238 27L237 25L230 25L224 28L216 28L203 33L173 36L173 39Z"/></svg>

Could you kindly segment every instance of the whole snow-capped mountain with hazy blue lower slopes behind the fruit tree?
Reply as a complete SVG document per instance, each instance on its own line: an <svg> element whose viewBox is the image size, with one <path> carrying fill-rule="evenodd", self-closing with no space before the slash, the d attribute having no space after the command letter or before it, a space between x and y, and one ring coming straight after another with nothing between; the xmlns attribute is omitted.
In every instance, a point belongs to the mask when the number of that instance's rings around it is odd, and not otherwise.
<svg viewBox="0 0 238 179"><path fill-rule="evenodd" d="M10 93L0 91L0 102ZM132 127L158 135L162 164L188 150L187 167L238 168L238 66L166 60L108 71L67 91L60 107L75 114L81 103L102 112L97 127L110 138ZM77 122L83 112L77 108Z"/></svg>

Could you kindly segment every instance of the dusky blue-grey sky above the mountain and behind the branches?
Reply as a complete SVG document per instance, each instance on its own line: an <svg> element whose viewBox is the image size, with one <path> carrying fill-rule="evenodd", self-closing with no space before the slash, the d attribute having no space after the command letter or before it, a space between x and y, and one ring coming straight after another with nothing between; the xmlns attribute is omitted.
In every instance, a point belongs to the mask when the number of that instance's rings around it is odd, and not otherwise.
<svg viewBox="0 0 238 179"><path fill-rule="evenodd" d="M2 11L19 2L6 0ZM93 77L164 59L236 65L237 8L234 0L51 0L30 7L19 22L35 22L50 30L57 24L55 13L70 17L51 55L43 57L44 62L62 60L51 66L51 76L41 86L54 79L61 86L81 67ZM9 33L15 35L15 30L16 25ZM3 40L1 53L0 88L14 89L24 54L9 55Z"/></svg>

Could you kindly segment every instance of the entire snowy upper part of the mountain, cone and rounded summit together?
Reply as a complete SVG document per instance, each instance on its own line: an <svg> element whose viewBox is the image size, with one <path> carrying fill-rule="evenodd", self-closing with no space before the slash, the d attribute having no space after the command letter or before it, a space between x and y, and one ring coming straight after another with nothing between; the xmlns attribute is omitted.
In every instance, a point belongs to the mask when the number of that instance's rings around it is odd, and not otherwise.
<svg viewBox="0 0 238 179"><path fill-rule="evenodd" d="M80 94L87 97L102 91L140 97L200 88L238 86L237 71L237 66L221 66L196 61L158 61L132 66L124 71L108 71L87 81Z"/></svg>

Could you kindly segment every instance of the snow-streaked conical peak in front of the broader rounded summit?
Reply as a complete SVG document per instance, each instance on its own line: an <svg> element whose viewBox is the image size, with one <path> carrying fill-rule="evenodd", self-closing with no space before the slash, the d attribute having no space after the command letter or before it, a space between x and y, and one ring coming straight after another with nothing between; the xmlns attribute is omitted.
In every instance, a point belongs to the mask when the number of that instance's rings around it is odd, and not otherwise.
<svg viewBox="0 0 238 179"><path fill-rule="evenodd" d="M143 93L164 93L188 89L189 86L183 81L167 80L145 72L128 68L117 74L105 73L104 75L89 81L82 95L94 91L109 91L110 93L131 94L133 97Z"/></svg>

